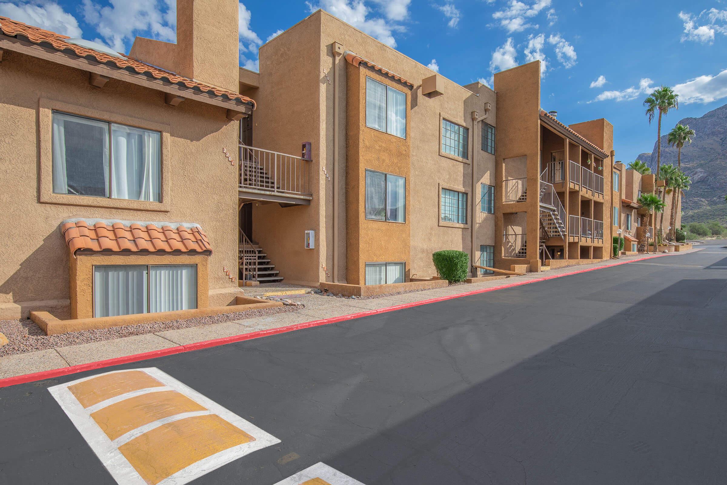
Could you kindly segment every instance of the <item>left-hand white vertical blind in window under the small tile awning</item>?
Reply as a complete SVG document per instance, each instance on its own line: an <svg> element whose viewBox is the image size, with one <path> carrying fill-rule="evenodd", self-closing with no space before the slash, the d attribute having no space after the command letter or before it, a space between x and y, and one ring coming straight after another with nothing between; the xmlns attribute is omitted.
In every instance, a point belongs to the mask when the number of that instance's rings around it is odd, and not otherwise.
<svg viewBox="0 0 727 485"><path fill-rule="evenodd" d="M94 266L94 316L146 313L146 266Z"/></svg>

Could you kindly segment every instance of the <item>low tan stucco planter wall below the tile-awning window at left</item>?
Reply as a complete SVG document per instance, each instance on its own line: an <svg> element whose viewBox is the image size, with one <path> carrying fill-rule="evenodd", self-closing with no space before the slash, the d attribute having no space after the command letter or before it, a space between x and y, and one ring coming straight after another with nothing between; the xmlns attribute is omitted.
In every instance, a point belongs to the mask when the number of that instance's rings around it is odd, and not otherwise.
<svg viewBox="0 0 727 485"><path fill-rule="evenodd" d="M185 318L221 315L222 313L236 313L238 311L280 306L283 306L282 302L271 302L270 300L260 300L260 298L238 296L236 297L236 305L225 307L194 308L192 310L164 311L159 313L136 313L134 315L104 316L98 318L76 318L74 320L60 320L47 311L31 311L31 320L46 335L55 335L66 332L81 332L81 330L109 329L112 326L148 324L153 321L182 320Z"/></svg>

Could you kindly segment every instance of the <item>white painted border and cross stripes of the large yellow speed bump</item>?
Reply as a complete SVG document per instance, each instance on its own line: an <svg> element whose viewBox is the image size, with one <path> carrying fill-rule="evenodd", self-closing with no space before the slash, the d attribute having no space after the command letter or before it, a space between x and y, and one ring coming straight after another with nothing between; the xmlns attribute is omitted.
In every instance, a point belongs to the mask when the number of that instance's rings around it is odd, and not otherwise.
<svg viewBox="0 0 727 485"><path fill-rule="evenodd" d="M129 370L146 372L147 374L155 377L157 380L165 385L164 388L159 387L150 389L176 390L177 392L182 393L188 398L191 398L193 401L196 401L197 404L200 404L206 409L209 409L209 411L199 413L194 412L177 414L172 417L172 420L182 419L182 417L185 417L185 415L191 414L217 414L217 416L220 416L222 419L230 422L230 424L236 426L237 428L243 430L245 433L248 433L250 436L255 438L254 441L249 441L238 446L233 446L233 448L225 449L222 452L213 454L210 457L206 457L203 460L193 463L187 468L184 468L177 473L174 473L174 475L165 478L163 481L160 482L160 485L187 484L195 478L198 478L206 473L209 473L212 470L220 468L222 465L225 465L233 460L237 460L240 457L244 457L246 454L252 453L258 449L265 448L266 446L280 443L280 440L275 436L272 436L269 433L265 433L265 431L257 428L257 426L253 425L251 422L242 419L237 414L230 412L228 409L220 406L220 404L217 404L211 399L202 396L196 390L193 390L187 385L182 384L182 382L174 379L174 377L170 376L169 374L166 374L165 372L156 369L156 367L147 367L143 369L125 369L122 371L105 372L104 374L127 372ZM98 377L99 375L103 374L96 374L89 377L83 377L79 380L75 380L72 382L66 382L65 384L55 385L48 390L58 402L58 404L60 404L63 412L68 415L68 418L71 420L71 422L73 422L73 425L76 426L76 429L79 430L81 436L84 437L84 439L87 441L93 452L103 463L108 472L111 473L111 476L113 476L113 479L116 480L116 483L118 483L119 485L147 485L145 481L141 478L139 473L134 470L134 467L132 467L131 463L126 460L126 457L124 457L124 455L119 452L116 444L112 442L108 438L108 436L106 436L103 430L101 430L101 428L92 419L89 413L89 409L91 408L84 409L83 406L81 406L81 403L79 403L79 401L76 399L76 397L73 396L73 393L68 390L68 386L70 385L77 384L78 382L83 382L84 380L89 380L94 377ZM134 391L134 393L136 392L137 391ZM126 398L131 397L132 395L132 393L126 394ZM119 401L123 400L121 396L119 396L119 398ZM111 401L111 399L108 399L107 401ZM108 404L113 403L109 402ZM164 424L163 421L164 420L158 420L154 423L150 423L150 425L158 423L156 424L156 426L158 426ZM141 433L143 432L136 433L134 436L140 436ZM125 438L127 435L129 435L129 433L126 433L126 435L117 438L117 441ZM129 437L129 439L132 438ZM345 485L349 484L347 483ZM350 482L350 485L357 484L355 482Z"/></svg>

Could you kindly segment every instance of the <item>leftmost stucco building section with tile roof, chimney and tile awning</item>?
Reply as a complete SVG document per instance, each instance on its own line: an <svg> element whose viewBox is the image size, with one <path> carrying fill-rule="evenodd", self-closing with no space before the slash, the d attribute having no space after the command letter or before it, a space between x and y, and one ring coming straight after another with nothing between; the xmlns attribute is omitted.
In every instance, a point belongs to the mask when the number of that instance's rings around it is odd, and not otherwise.
<svg viewBox="0 0 727 485"><path fill-rule="evenodd" d="M204 308L240 293L223 270L238 264L225 151L236 157L255 106L238 93L237 21L219 20L237 4L177 7L177 44L137 39L130 56L0 17L0 318Z"/></svg>

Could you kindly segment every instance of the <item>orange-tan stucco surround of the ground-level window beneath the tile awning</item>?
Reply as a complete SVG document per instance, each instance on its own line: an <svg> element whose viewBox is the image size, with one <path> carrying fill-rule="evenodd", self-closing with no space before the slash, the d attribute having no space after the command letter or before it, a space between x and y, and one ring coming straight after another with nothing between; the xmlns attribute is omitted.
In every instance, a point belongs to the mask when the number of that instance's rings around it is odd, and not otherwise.
<svg viewBox="0 0 727 485"><path fill-rule="evenodd" d="M76 252L69 257L71 318L93 318L94 265L196 265L197 308L209 307L209 257L199 254Z"/></svg>

